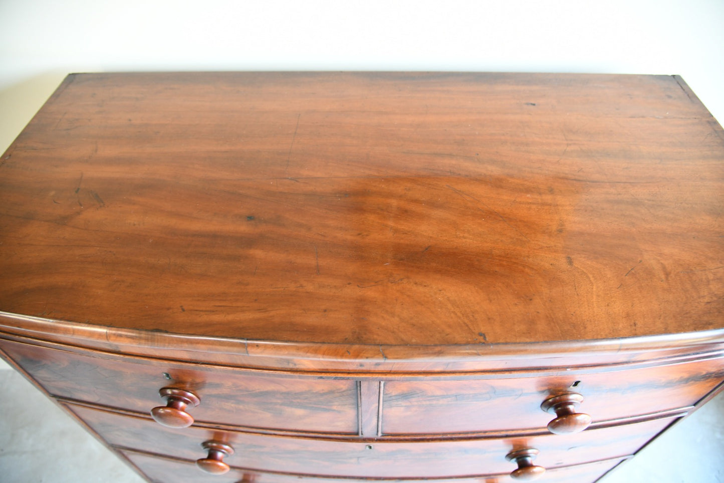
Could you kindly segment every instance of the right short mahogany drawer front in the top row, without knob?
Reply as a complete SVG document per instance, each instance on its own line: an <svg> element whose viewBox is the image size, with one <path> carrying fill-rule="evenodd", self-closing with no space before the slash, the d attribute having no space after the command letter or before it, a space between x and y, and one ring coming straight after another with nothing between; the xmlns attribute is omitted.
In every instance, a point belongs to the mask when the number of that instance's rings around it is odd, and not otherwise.
<svg viewBox="0 0 724 483"><path fill-rule="evenodd" d="M724 358L536 378L384 383L382 434L444 434L545 428L541 403L574 392L597 421L694 405L724 379Z"/></svg>

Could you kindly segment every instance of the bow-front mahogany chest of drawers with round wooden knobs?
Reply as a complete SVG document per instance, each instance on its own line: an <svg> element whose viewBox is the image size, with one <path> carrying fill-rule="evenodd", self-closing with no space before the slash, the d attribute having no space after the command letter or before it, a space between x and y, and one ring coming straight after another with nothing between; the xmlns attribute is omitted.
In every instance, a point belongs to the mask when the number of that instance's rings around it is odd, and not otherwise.
<svg viewBox="0 0 724 483"><path fill-rule="evenodd" d="M149 482L594 482L724 381L675 76L70 75L0 162L0 354Z"/></svg>

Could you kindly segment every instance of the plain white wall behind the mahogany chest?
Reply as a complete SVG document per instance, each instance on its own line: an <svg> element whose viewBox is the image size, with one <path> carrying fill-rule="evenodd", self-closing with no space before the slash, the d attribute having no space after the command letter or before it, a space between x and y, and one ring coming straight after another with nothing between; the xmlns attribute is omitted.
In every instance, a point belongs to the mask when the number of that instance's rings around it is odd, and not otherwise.
<svg viewBox="0 0 724 483"><path fill-rule="evenodd" d="M0 149L110 70L680 74L724 120L724 0L0 0Z"/></svg>

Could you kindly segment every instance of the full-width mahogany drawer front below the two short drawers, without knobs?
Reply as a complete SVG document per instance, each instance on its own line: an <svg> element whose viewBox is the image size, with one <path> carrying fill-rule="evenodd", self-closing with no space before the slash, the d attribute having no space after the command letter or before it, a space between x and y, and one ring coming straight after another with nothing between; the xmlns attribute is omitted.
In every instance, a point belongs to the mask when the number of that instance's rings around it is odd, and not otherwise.
<svg viewBox="0 0 724 483"><path fill-rule="evenodd" d="M635 453L672 422L670 418L660 419L565 436L345 441L224 432L198 426L168 429L150 418L73 405L70 409L116 447L195 461L206 457L203 442L218 441L234 448L235 453L224 461L237 468L368 478L507 474L515 465L506 461L505 455L523 447L539 450L534 463L545 468L618 458Z"/></svg>

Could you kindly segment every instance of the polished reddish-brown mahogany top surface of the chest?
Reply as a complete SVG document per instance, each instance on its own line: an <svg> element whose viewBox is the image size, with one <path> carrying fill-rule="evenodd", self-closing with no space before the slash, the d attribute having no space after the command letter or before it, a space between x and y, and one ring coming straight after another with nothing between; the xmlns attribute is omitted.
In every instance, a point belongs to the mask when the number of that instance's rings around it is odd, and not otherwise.
<svg viewBox="0 0 724 483"><path fill-rule="evenodd" d="M0 311L435 345L722 329L681 78L70 75L0 160Z"/></svg>

